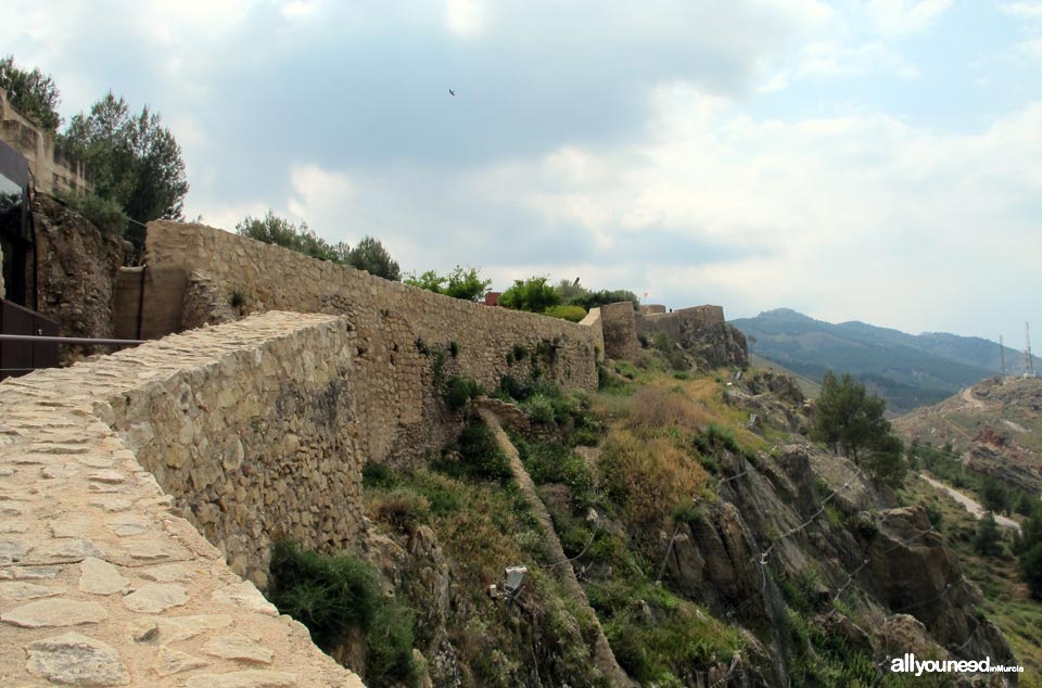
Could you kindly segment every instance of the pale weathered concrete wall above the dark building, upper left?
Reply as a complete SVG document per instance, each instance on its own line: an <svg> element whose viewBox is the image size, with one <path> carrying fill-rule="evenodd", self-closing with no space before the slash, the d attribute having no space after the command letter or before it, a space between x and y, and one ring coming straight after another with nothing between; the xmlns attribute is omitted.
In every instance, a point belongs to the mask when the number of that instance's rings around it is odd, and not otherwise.
<svg viewBox="0 0 1042 688"><path fill-rule="evenodd" d="M35 187L47 193L84 191L91 188L84 164L55 144L8 101L0 90L0 140L22 153L29 163Z"/></svg>

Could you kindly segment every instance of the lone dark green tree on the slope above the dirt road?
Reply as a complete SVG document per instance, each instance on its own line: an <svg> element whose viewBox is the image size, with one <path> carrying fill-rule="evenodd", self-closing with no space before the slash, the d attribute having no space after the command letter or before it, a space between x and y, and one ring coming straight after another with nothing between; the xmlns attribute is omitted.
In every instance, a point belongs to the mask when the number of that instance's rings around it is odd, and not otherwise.
<svg viewBox="0 0 1042 688"><path fill-rule="evenodd" d="M887 403L865 393L865 385L829 370L814 410L811 437L862 464L876 481L897 486L904 479L904 446L884 418Z"/></svg>

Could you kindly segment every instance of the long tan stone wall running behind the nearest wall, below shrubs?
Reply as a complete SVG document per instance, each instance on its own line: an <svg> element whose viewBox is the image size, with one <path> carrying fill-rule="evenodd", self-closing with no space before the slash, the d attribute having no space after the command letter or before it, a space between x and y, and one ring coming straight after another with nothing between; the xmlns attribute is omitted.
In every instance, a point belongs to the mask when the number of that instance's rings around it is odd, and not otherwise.
<svg viewBox="0 0 1042 688"><path fill-rule="evenodd" d="M597 386L597 327L442 296L201 225L150 224L147 262L147 322L179 315L187 329L227 320L232 292L252 313L347 316L365 460L415 460L441 448L435 378L466 374L493 388L503 375L522 379L538 366L567 387ZM183 294L177 314L168 307L175 293ZM516 346L524 347L522 360Z"/></svg>

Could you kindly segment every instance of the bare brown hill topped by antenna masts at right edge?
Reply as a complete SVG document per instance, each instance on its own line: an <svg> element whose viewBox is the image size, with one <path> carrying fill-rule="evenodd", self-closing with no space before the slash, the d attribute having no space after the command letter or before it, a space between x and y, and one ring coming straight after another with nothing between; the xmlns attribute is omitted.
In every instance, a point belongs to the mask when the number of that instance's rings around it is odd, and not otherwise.
<svg viewBox="0 0 1042 688"><path fill-rule="evenodd" d="M902 416L894 426L908 439L951 445L978 472L1042 490L1042 379L989 378Z"/></svg>

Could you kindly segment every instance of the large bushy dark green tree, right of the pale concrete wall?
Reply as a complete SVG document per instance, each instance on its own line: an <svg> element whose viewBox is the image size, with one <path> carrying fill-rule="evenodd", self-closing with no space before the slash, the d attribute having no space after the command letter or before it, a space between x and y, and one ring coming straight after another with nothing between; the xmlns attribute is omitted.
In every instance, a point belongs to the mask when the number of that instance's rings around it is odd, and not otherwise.
<svg viewBox="0 0 1042 688"><path fill-rule="evenodd" d="M181 148L148 105L131 114L110 91L90 114L73 117L61 140L87 164L94 193L119 203L131 219L182 217L188 180Z"/></svg>

